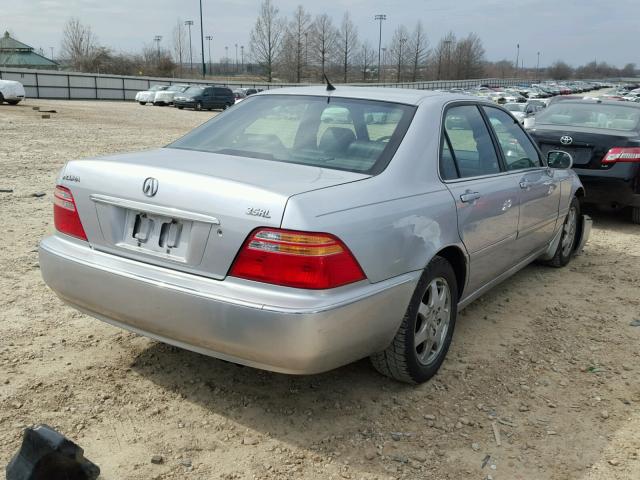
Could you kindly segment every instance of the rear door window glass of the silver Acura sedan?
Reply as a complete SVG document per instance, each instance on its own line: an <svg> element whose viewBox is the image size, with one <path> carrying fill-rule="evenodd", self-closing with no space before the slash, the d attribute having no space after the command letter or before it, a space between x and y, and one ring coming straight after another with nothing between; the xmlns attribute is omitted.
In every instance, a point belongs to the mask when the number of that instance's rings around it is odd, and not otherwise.
<svg viewBox="0 0 640 480"><path fill-rule="evenodd" d="M491 135L475 105L448 109L444 126L461 178L500 173Z"/></svg>

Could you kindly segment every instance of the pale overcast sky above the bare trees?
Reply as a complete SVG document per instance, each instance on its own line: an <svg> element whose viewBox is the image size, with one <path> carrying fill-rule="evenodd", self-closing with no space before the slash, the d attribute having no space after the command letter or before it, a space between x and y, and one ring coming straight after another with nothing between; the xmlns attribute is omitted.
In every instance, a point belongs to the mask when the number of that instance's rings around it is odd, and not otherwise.
<svg viewBox="0 0 640 480"><path fill-rule="evenodd" d="M378 27L373 16L387 15L382 42L391 39L399 24L412 28L417 19L426 27L431 45L452 30L458 36L480 35L489 60L515 60L516 44L525 66L534 66L536 52L541 65L564 59L578 65L597 59L618 66L640 65L640 0L273 0L290 16L298 4L313 15L330 14L339 23L349 10L361 39L377 45ZM245 45L257 15L259 0L202 0L204 34L213 35L212 56L219 59L224 47L235 55L234 45ZM5 4L2 6L2 4ZM137 51L163 36L169 46L178 18L196 22L194 54L199 44L198 0L0 0L0 28L33 47L60 50L66 20L77 16L90 25L100 43L117 50ZM196 41L197 40L197 41ZM205 51L206 51L205 45ZM215 61L215 60L214 60Z"/></svg>

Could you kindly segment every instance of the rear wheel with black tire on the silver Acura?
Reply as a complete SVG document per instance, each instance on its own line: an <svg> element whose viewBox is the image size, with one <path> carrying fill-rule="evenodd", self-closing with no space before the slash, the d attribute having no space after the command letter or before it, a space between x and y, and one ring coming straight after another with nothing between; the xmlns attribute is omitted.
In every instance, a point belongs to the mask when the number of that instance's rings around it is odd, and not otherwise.
<svg viewBox="0 0 640 480"><path fill-rule="evenodd" d="M447 260L436 256L422 273L391 345L371 356L374 368L401 382L426 382L447 355L457 314L455 273Z"/></svg>

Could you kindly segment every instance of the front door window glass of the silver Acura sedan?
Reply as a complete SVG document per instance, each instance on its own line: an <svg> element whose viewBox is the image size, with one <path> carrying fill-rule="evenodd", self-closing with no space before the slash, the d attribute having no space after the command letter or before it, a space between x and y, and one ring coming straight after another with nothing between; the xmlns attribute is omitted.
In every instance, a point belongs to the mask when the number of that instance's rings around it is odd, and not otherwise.
<svg viewBox="0 0 640 480"><path fill-rule="evenodd" d="M482 108L489 118L493 131L496 132L507 170L521 170L542 165L536 147L510 115L497 108Z"/></svg>

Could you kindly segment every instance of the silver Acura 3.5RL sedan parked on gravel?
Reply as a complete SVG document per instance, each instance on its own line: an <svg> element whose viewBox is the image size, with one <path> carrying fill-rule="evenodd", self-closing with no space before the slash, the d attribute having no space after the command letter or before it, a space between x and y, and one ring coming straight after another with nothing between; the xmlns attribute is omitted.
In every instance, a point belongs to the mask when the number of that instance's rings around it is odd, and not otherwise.
<svg viewBox="0 0 640 480"><path fill-rule="evenodd" d="M582 248L571 162L482 99L269 91L166 148L68 162L40 266L65 302L162 342L290 374L370 356L419 383L461 308Z"/></svg>

